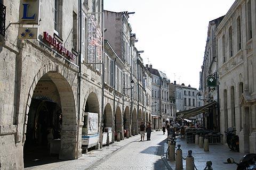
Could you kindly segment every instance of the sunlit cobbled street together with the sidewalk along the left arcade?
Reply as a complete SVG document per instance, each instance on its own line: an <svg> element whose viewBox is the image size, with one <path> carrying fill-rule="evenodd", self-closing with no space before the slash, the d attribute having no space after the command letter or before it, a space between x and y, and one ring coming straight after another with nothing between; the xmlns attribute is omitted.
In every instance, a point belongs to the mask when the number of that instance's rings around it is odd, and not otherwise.
<svg viewBox="0 0 256 170"><path fill-rule="evenodd" d="M151 141L139 141L140 136L115 142L108 147L93 150L76 160L27 167L26 170L84 170L84 169L164 169L163 132L152 132ZM145 137L146 139L146 137ZM162 146L161 146L162 145Z"/></svg>

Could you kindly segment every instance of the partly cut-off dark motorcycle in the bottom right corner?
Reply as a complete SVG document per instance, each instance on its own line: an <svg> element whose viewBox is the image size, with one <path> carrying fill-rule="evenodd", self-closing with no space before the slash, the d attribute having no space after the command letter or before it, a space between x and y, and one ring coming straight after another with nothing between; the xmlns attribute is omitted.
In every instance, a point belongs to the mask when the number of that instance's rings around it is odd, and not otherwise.
<svg viewBox="0 0 256 170"><path fill-rule="evenodd" d="M247 154L243 156L239 163L236 163L233 158L228 158L227 163L236 164L236 170L256 170L256 154Z"/></svg>

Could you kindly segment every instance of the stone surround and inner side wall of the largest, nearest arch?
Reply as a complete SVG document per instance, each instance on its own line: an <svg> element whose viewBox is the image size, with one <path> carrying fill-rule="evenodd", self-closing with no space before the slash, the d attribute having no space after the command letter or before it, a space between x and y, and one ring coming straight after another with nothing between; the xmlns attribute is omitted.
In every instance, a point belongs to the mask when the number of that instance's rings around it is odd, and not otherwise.
<svg viewBox="0 0 256 170"><path fill-rule="evenodd" d="M70 71L71 72L71 71ZM61 132L60 132L60 159L75 159L76 158L76 102L73 92L73 82L76 78L69 72L69 70L64 69L59 65L54 63L49 63L44 65L39 69L36 76L34 77L33 83L29 89L29 96L25 106L25 117L23 124L23 139L22 143L25 142L25 137L27 133L27 123L29 118L29 110L31 102L34 100L33 95L36 87L39 86L38 82L49 81L52 82L58 91L59 103L61 106ZM43 98L47 98L46 95ZM40 100L44 100L42 97L38 96ZM50 101L51 99L45 99Z"/></svg>

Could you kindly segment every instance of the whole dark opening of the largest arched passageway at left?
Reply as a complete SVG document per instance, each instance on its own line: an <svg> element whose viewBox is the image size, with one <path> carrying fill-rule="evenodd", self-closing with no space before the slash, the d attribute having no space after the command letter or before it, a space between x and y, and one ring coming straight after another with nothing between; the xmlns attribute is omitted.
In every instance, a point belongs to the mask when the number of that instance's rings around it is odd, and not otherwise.
<svg viewBox="0 0 256 170"><path fill-rule="evenodd" d="M44 74L36 82L31 103L26 109L29 111L24 125L24 167L45 164L50 154L60 159L75 159L76 106L65 77L57 72ZM38 161L33 162L35 159Z"/></svg>

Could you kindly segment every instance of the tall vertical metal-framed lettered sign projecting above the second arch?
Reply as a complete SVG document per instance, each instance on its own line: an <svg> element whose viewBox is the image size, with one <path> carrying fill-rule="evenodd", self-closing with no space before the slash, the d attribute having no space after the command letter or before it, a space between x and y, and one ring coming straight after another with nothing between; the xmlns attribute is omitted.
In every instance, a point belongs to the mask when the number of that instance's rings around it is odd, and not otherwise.
<svg viewBox="0 0 256 170"><path fill-rule="evenodd" d="M99 63L102 55L102 32L94 15L88 20L88 63Z"/></svg>

